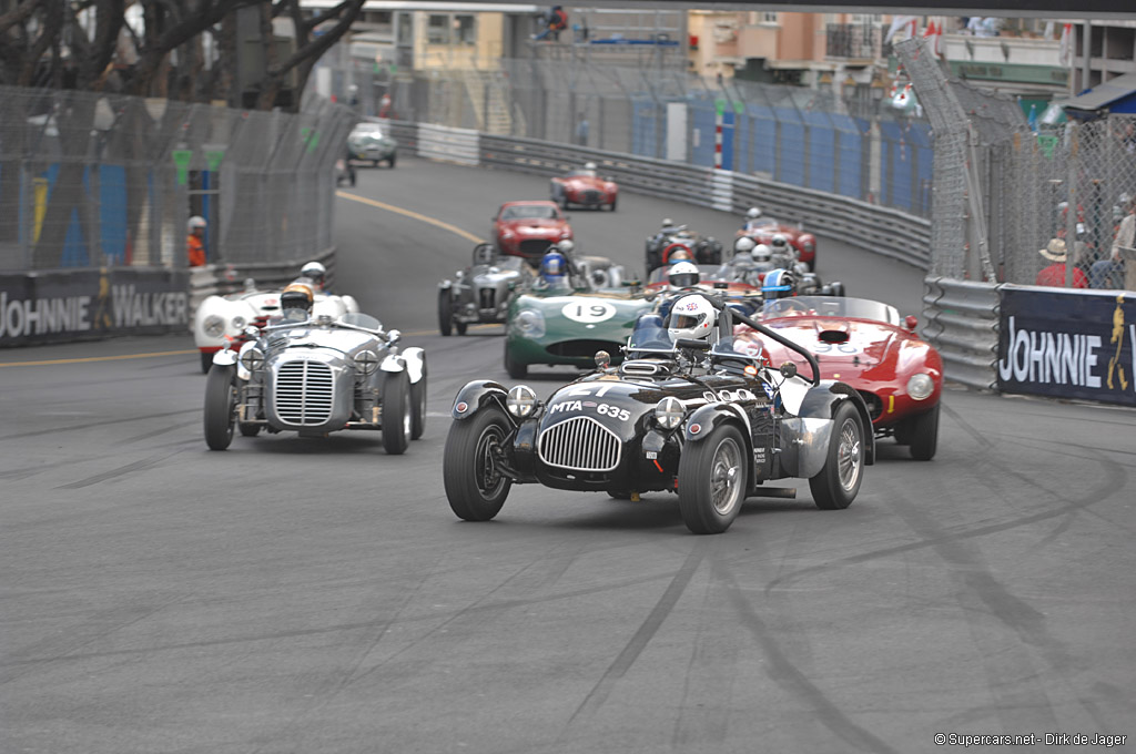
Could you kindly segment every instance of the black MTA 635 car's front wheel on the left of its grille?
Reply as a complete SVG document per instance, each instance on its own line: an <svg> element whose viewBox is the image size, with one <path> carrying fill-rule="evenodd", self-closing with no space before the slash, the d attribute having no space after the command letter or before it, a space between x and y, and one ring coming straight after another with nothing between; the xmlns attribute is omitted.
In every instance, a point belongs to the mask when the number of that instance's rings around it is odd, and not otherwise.
<svg viewBox="0 0 1136 754"><path fill-rule="evenodd" d="M488 521L504 505L512 480L498 467L509 420L495 408L454 421L442 453L442 481L450 509L466 521Z"/></svg>

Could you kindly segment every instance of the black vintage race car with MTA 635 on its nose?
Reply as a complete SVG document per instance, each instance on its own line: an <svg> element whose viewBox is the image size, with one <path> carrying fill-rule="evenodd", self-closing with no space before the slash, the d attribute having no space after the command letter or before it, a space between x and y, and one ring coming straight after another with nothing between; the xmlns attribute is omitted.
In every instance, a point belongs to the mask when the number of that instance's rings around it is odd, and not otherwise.
<svg viewBox="0 0 1136 754"><path fill-rule="evenodd" d="M600 352L595 371L544 402L525 385L462 387L443 458L453 512L492 519L513 484L630 500L667 491L678 493L692 531L718 534L745 497L786 477L808 478L818 508L847 508L863 467L875 461L863 400L842 382L820 380L805 349L711 294L694 295L719 311L712 343L671 342L662 327L638 328L618 368ZM811 379L792 362L774 369L752 333L734 338L735 321L799 353ZM778 493L785 491L766 494Z"/></svg>

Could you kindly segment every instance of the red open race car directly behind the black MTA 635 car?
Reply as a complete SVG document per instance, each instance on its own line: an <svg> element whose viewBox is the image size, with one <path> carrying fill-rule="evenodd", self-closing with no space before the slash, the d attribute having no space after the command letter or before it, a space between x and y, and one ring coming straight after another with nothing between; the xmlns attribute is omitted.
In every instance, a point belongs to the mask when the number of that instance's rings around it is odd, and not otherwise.
<svg viewBox="0 0 1136 754"><path fill-rule="evenodd" d="M877 437L895 437L917 460L935 456L943 359L916 335L914 317L901 321L894 307L864 299L790 296L766 301L759 319L812 351L821 379L854 387L868 404ZM775 368L804 363L777 343L762 346Z"/></svg>

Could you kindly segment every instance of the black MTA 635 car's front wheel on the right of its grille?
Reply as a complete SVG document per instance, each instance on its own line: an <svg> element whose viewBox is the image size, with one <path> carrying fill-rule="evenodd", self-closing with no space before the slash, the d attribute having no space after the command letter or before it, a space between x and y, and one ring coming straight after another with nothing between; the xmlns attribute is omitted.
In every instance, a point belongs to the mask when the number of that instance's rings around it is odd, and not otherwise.
<svg viewBox="0 0 1136 754"><path fill-rule="evenodd" d="M745 442L720 425L690 443L678 461L678 509L694 534L721 534L737 518L749 484Z"/></svg>

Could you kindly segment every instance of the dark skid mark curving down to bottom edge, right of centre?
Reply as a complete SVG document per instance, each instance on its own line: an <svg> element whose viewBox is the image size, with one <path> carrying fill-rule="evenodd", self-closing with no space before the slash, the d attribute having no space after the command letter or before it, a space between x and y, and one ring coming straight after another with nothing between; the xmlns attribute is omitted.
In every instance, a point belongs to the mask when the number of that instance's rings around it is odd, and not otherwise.
<svg viewBox="0 0 1136 754"><path fill-rule="evenodd" d="M776 638L777 631L770 630L761 620L761 615L746 598L742 585L734 578L734 573L718 562L711 561L710 564L717 580L726 587L727 596L738 615L742 628L749 631L769 660L769 672L772 680L816 710L817 721L849 746L871 754L899 754L897 749L892 748L883 739L857 724L835 702L828 698L828 695L820 687L809 680L809 677L793 664Z"/></svg>

